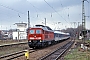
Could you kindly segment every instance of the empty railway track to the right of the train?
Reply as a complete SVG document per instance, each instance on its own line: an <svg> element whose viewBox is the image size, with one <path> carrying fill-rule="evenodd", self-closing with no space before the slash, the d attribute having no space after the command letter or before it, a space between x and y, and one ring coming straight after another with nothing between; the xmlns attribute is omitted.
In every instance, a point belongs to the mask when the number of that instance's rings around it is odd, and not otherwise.
<svg viewBox="0 0 90 60"><path fill-rule="evenodd" d="M56 49L52 53L50 53L38 60L58 60L71 47L71 45L73 43L74 43L74 41L70 41L67 44L65 44L64 46Z"/></svg>

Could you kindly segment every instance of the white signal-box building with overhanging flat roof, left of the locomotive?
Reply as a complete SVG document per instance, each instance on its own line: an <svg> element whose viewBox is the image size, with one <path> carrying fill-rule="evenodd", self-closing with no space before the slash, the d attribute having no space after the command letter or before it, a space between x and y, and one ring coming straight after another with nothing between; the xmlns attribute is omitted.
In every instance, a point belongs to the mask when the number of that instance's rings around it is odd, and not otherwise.
<svg viewBox="0 0 90 60"><path fill-rule="evenodd" d="M12 33L13 40L27 39L27 23L15 23L15 25L17 25L17 31Z"/></svg>

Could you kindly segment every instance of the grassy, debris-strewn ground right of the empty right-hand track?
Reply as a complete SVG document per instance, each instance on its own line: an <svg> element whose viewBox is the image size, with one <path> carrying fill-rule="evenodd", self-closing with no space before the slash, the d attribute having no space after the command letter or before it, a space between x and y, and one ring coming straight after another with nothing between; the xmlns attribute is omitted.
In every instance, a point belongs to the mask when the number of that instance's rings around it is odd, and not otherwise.
<svg viewBox="0 0 90 60"><path fill-rule="evenodd" d="M81 48L82 41L76 40L72 48L64 56L64 60L90 60L90 44L88 41ZM87 46L88 45L88 46Z"/></svg>

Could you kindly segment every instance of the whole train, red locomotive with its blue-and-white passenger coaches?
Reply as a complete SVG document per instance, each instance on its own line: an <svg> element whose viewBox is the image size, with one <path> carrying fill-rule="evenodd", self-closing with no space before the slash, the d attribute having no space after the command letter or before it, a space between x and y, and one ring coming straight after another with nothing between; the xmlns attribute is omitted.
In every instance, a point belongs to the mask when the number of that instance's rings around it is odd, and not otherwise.
<svg viewBox="0 0 90 60"><path fill-rule="evenodd" d="M35 25L28 28L27 39L30 48L44 47L70 38L69 33L52 30L48 26Z"/></svg>

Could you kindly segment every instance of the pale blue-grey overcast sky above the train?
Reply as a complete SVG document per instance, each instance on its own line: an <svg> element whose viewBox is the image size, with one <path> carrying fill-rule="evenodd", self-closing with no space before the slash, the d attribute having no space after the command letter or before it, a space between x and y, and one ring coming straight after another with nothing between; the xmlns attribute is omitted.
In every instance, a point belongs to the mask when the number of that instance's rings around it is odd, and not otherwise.
<svg viewBox="0 0 90 60"><path fill-rule="evenodd" d="M90 16L88 2L85 1L86 16ZM46 25L52 29L74 27L73 22L82 23L82 0L0 0L0 29L14 29L15 23L27 23L28 11L31 26L44 25L45 18ZM87 29L90 29L89 25L90 18L86 17Z"/></svg>

